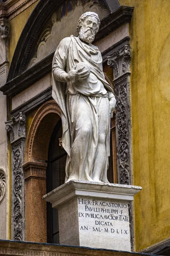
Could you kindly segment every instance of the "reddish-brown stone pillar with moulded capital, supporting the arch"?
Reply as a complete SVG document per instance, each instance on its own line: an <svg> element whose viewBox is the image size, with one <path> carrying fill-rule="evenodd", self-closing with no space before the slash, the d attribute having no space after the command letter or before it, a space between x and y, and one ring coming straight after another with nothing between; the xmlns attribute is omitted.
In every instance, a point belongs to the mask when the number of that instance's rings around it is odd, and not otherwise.
<svg viewBox="0 0 170 256"><path fill-rule="evenodd" d="M23 170L26 186L26 241L47 242L46 193L47 163L29 161ZM40 220L41 215L41 220Z"/></svg>

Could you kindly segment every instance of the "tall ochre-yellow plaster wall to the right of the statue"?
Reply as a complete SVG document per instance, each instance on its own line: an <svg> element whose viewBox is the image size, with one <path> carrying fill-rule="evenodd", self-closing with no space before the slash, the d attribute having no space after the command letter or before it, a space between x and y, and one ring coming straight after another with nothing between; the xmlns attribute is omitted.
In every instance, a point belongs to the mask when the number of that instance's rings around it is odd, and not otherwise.
<svg viewBox="0 0 170 256"><path fill-rule="evenodd" d="M120 0L130 23L136 251L170 237L170 1Z"/></svg>

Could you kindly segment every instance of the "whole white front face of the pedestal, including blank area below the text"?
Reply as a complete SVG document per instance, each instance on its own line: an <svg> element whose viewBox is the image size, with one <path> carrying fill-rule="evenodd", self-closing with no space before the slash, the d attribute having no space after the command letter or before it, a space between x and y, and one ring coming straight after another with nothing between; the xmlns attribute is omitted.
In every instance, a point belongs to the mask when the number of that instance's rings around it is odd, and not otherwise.
<svg viewBox="0 0 170 256"><path fill-rule="evenodd" d="M84 246L130 250L128 204L125 201L77 198L79 238Z"/></svg>

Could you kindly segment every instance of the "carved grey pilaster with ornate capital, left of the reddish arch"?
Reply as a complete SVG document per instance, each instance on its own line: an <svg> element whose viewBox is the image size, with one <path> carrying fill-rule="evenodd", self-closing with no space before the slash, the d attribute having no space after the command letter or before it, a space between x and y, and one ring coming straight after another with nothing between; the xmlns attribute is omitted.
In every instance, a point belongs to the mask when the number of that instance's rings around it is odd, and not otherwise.
<svg viewBox="0 0 170 256"><path fill-rule="evenodd" d="M12 206L11 206L11 239L25 240L25 182L23 161L26 140L26 116L19 113L6 122L6 130L11 136L11 180L12 180Z"/></svg>

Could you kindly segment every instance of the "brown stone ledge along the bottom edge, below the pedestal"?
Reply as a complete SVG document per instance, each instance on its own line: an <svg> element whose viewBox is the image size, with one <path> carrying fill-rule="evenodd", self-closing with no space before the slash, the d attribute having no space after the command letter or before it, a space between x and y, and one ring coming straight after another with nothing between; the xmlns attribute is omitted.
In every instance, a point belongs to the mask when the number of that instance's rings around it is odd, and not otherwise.
<svg viewBox="0 0 170 256"><path fill-rule="evenodd" d="M96 249L60 244L0 240L0 256L153 256L117 250Z"/></svg>

